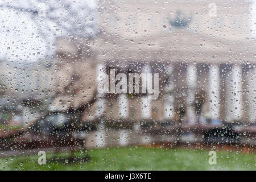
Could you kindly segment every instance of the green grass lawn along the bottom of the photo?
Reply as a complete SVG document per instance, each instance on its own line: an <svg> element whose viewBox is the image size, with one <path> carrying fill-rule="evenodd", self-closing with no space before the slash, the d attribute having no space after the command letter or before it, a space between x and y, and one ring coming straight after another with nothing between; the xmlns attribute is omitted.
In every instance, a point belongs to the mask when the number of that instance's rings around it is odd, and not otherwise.
<svg viewBox="0 0 256 182"><path fill-rule="evenodd" d="M86 151L89 160L66 160L69 153L47 155L46 165L38 156L14 156L0 159L0 170L255 170L254 154L217 151L217 164L208 163L209 151L170 148L123 147ZM77 151L76 158L85 156ZM58 160L57 160L58 159Z"/></svg>

